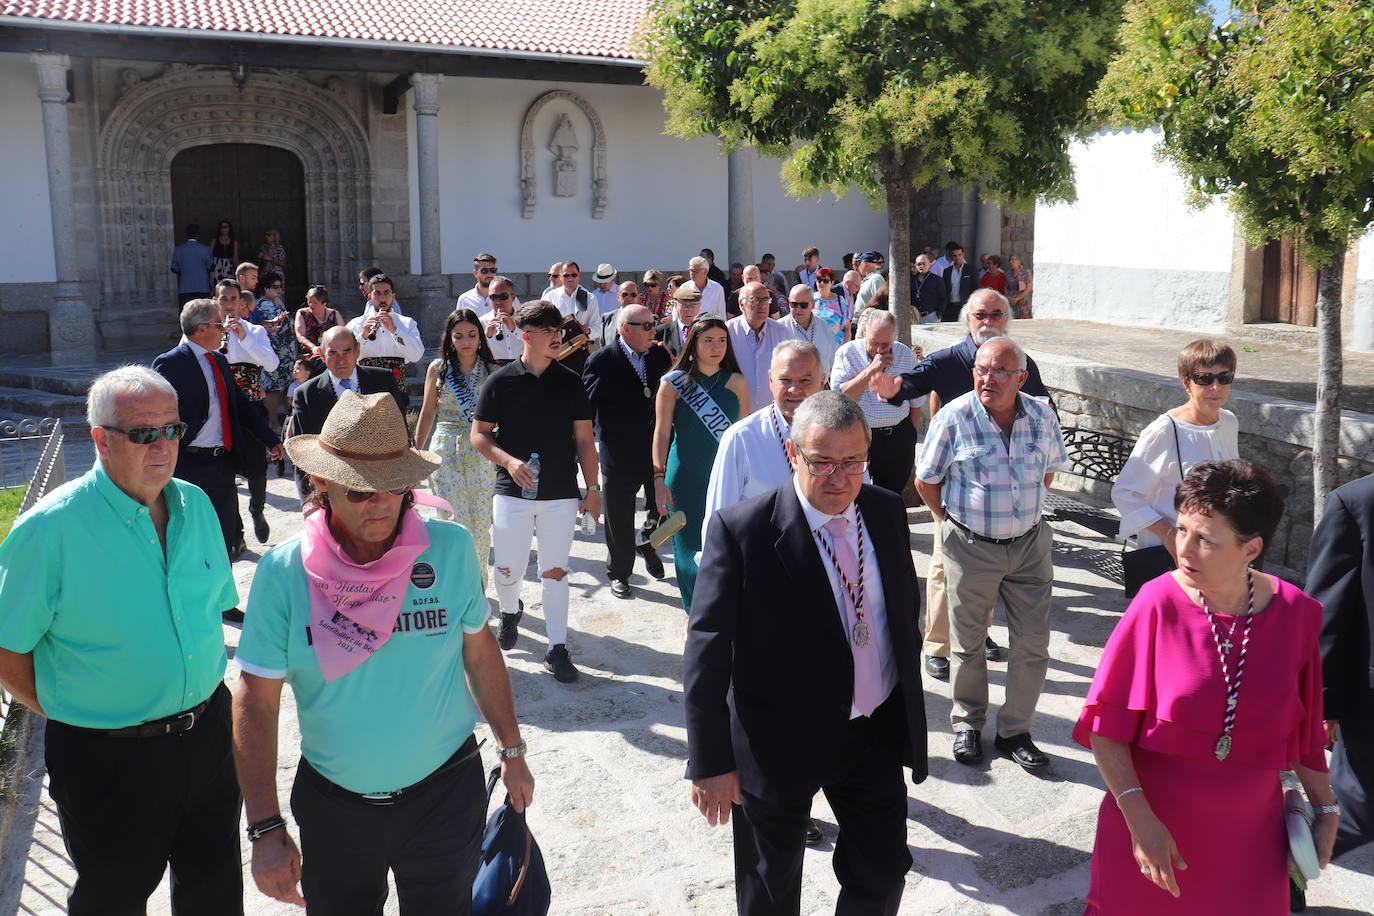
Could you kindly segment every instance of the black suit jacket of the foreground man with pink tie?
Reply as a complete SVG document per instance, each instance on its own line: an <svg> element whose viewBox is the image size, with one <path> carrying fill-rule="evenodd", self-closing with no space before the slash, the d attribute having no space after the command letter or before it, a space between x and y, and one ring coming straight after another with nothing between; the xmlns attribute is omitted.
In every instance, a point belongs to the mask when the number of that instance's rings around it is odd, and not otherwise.
<svg viewBox="0 0 1374 916"><path fill-rule="evenodd" d="M926 777L921 592L901 499L859 492L882 573L888 633L905 702L901 762ZM763 798L840 776L853 703L853 656L820 549L791 483L712 520L684 655L687 777L739 770Z"/></svg>

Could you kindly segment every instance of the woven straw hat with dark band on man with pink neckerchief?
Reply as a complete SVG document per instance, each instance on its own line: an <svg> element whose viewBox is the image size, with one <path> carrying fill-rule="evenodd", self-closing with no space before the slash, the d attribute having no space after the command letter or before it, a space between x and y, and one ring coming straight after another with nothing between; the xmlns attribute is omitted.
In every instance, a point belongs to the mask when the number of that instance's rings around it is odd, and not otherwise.
<svg viewBox="0 0 1374 916"><path fill-rule="evenodd" d="M344 391L319 435L293 435L286 453L306 474L350 490L394 490L423 481L442 459L411 448L405 419L386 391Z"/></svg>

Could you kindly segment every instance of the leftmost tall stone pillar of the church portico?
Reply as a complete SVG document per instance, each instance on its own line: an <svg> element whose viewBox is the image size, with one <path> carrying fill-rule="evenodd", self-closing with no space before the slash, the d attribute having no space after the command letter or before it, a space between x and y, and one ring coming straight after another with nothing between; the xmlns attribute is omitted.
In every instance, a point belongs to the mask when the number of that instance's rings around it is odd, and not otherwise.
<svg viewBox="0 0 1374 916"><path fill-rule="evenodd" d="M30 55L38 71L43 100L43 141L48 155L48 205L52 210L52 260L56 266L52 306L48 309L48 349L54 365L95 361L95 316L81 293L77 266L77 216L71 192L71 139L67 130L67 71L65 54Z"/></svg>

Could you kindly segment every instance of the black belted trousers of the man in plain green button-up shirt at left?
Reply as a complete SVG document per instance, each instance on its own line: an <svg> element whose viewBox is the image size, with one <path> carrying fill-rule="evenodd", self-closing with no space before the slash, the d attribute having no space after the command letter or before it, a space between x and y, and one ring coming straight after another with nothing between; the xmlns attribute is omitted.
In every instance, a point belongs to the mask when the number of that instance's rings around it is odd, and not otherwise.
<svg viewBox="0 0 1374 916"><path fill-rule="evenodd" d="M168 864L173 913L242 916L228 688L181 735L106 737L48 720L47 764L77 869L71 916L143 916Z"/></svg>

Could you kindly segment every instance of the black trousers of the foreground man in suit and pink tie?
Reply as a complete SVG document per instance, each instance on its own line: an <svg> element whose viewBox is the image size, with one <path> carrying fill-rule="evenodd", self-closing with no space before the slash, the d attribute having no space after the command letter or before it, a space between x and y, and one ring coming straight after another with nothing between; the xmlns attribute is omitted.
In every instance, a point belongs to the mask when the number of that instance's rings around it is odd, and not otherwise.
<svg viewBox="0 0 1374 916"><path fill-rule="evenodd" d="M735 904L741 916L798 916L807 821L816 788L840 821L831 864L840 879L840 916L894 916L911 868L907 786L900 736L901 688L870 718L849 721L844 764L824 786L760 798L741 792L731 813Z"/></svg>

